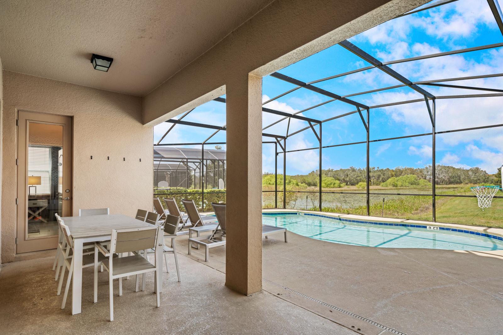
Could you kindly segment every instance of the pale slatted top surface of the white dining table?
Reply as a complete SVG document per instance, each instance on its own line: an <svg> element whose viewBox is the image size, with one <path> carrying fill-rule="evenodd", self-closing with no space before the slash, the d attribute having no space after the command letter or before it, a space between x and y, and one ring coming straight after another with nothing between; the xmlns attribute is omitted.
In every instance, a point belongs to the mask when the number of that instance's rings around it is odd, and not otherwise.
<svg viewBox="0 0 503 335"><path fill-rule="evenodd" d="M122 214L66 216L61 218L70 229L73 238L110 236L112 229L151 227L143 222Z"/></svg>

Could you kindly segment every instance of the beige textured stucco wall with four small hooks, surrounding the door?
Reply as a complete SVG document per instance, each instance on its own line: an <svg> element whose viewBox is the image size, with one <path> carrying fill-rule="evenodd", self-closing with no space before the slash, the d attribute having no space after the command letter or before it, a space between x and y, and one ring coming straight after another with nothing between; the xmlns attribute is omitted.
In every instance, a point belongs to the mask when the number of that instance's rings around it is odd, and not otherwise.
<svg viewBox="0 0 503 335"><path fill-rule="evenodd" d="M153 129L141 124L141 98L11 71L4 71L4 98L4 263L15 255L17 110L73 116L73 215L152 208Z"/></svg>

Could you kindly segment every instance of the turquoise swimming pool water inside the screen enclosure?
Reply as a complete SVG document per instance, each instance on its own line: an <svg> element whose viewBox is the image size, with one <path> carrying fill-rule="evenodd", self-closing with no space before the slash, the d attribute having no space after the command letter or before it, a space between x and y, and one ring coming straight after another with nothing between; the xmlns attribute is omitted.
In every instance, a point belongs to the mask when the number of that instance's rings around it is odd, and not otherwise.
<svg viewBox="0 0 503 335"><path fill-rule="evenodd" d="M298 213L263 213L262 223L285 227L299 235L343 244L474 251L503 249L503 240L498 240L494 235L476 235L468 230L428 230L427 226L378 225Z"/></svg>

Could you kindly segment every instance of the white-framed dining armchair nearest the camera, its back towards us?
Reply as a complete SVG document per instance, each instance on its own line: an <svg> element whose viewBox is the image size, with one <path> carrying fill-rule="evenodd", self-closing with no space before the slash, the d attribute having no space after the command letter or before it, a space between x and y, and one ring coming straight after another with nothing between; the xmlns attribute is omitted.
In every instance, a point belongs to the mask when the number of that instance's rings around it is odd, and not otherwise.
<svg viewBox="0 0 503 335"><path fill-rule="evenodd" d="M114 320L114 286L113 280L119 279L119 296L122 296L122 278L126 276L136 275L135 292L138 292L138 275L143 277L142 291L145 290L145 274L154 272L157 276L157 271L160 271L160 265L157 262L157 253L161 250L157 246L162 238L161 226L153 225L152 227L134 228L134 229L113 229L110 243L110 249L107 249L100 242L95 243L95 286L94 286L94 302L98 302L98 254L107 257L108 260L103 261L103 267L109 274L109 301L110 301L110 321ZM162 245L162 244L160 244ZM146 250L153 249L155 252L155 262L150 263L146 257ZM122 258L114 258L114 254L131 253L143 250L144 256L132 255ZM155 280L156 285L162 285ZM157 307L160 306L159 288L155 288L157 296Z"/></svg>

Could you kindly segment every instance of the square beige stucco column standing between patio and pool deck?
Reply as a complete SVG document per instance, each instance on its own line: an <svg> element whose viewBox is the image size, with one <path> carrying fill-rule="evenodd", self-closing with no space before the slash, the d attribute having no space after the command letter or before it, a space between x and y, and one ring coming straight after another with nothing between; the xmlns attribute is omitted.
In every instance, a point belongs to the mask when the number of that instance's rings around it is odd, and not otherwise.
<svg viewBox="0 0 503 335"><path fill-rule="evenodd" d="M227 244L225 285L262 290L262 78L226 83Z"/></svg>

